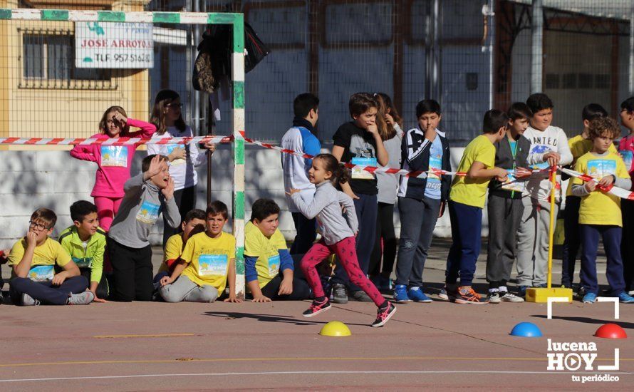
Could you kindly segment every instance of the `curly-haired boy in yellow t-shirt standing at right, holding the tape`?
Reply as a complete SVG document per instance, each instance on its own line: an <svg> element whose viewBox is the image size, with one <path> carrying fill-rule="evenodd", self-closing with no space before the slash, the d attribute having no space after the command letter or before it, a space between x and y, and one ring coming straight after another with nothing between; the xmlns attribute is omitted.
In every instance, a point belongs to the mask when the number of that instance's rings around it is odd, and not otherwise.
<svg viewBox="0 0 634 392"><path fill-rule="evenodd" d="M606 275L610 294L618 296L622 303L634 303L634 297L625 292L623 279L623 259L620 256L623 219L620 198L605 192L612 186L628 190L632 187L632 180L623 159L608 150L613 140L620 135L620 128L612 118L596 118L590 123L588 135L592 140L592 149L578 158L575 171L595 178L598 184L594 181L584 184L578 177L572 181L572 194L581 197L581 287L586 292L583 303L594 303L599 292L596 276L599 236L603 239L603 248L606 249L608 257Z"/></svg>

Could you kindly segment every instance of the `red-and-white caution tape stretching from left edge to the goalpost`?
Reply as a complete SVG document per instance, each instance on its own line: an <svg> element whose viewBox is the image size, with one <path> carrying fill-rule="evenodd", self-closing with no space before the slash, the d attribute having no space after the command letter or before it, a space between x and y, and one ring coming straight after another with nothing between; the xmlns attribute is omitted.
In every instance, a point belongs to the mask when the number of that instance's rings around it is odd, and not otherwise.
<svg viewBox="0 0 634 392"><path fill-rule="evenodd" d="M194 138L0 138L0 145L142 145L229 143L233 136L196 136Z"/></svg>

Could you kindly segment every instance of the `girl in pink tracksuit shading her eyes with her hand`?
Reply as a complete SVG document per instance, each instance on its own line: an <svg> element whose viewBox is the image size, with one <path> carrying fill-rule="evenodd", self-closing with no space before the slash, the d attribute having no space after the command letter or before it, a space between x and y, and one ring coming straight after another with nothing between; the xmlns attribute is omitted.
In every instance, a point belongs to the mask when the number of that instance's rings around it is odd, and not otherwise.
<svg viewBox="0 0 634 392"><path fill-rule="evenodd" d="M130 127L141 128L130 132ZM141 120L128 118L120 106L105 110L99 122L100 133L90 138L151 138L156 127ZM90 196L97 206L99 225L106 232L123 199L123 184L130 178L130 165L134 158L135 145L76 145L71 157L97 163L95 186Z"/></svg>

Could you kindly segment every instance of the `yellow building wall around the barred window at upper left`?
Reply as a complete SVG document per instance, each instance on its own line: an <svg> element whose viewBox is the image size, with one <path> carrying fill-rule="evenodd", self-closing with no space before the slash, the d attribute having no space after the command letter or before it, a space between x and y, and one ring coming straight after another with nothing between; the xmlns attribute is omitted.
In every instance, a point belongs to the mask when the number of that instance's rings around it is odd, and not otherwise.
<svg viewBox="0 0 634 392"><path fill-rule="evenodd" d="M87 9L94 6L95 9L113 11L142 11L147 2L114 1L110 7L104 7L104 1L86 1L85 6L67 8ZM34 5L51 8L48 3L40 1ZM61 8L60 1L55 3L54 8ZM16 6L17 1L0 0L0 8ZM149 119L150 78L147 69L112 70L109 86L99 87L100 81L90 81L88 88L82 87L86 82L78 82L78 88L68 88L61 83L45 80L43 83L46 88L24 87L28 83L23 78L23 34L74 33L74 25L73 22L0 21L0 137L85 138L98 133L99 120L112 105L125 108L130 118ZM71 62L74 62L74 58ZM23 148L11 146L9 149Z"/></svg>

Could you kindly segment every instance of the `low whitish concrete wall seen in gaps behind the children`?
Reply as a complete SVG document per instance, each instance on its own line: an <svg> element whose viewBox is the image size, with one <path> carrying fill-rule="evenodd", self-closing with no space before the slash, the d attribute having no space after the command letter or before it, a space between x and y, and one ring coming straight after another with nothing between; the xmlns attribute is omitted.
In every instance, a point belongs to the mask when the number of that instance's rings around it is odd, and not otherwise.
<svg viewBox="0 0 634 392"><path fill-rule="evenodd" d="M330 148L330 146L327 146ZM452 149L452 165L462 156L462 148ZM90 200L95 181L96 165L71 158L68 151L0 151L4 165L0 165L0 249L10 247L28 229L31 213L48 207L58 214L58 233L72 224L68 207L76 200ZM145 151L137 151L132 173L140 170ZM207 196L207 167L199 167L197 207L203 208ZM229 145L222 145L212 159L212 197L231 206L232 158ZM286 210L284 185L279 153L249 145L246 148L246 217L251 215L251 203L259 197L271 197L280 205L280 229L287 239L295 235L293 220ZM486 214L485 214L486 215ZM395 211L397 233L400 229ZM486 217L484 221L486 226ZM230 224L229 224L230 226ZM229 227L230 229L230 227ZM151 241L161 241L162 220L152 232ZM438 222L435 234L449 237L449 215ZM483 232L486 235L486 232Z"/></svg>

